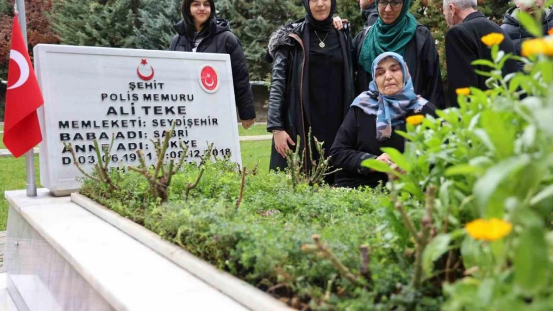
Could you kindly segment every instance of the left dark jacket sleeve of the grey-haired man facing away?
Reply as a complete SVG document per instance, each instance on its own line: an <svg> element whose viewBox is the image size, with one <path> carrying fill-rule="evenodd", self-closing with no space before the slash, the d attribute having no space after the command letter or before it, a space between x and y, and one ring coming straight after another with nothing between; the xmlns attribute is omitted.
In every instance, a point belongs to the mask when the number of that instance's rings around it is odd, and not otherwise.
<svg viewBox="0 0 553 311"><path fill-rule="evenodd" d="M446 38L447 84L451 107L458 107L458 88L478 85L478 76L472 62L478 59L472 39L459 28L447 31Z"/></svg>

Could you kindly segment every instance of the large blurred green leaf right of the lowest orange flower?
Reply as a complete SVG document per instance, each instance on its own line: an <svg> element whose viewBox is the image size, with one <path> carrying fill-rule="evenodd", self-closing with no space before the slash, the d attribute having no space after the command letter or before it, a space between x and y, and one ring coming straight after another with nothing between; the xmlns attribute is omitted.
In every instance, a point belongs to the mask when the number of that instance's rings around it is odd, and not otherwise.
<svg viewBox="0 0 553 311"><path fill-rule="evenodd" d="M515 284L531 296L547 284L549 278L549 247L544 229L530 226L521 234L514 250Z"/></svg>

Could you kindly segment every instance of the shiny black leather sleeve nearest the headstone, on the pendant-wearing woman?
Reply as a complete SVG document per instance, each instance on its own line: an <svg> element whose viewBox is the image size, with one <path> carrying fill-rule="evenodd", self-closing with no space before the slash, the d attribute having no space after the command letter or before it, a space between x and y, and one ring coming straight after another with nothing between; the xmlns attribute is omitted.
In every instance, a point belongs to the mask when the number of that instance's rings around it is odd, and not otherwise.
<svg viewBox="0 0 553 311"><path fill-rule="evenodd" d="M269 88L269 111L267 113L267 131L284 130L286 108L286 86L288 85L288 49L276 50L273 57L271 84Z"/></svg>

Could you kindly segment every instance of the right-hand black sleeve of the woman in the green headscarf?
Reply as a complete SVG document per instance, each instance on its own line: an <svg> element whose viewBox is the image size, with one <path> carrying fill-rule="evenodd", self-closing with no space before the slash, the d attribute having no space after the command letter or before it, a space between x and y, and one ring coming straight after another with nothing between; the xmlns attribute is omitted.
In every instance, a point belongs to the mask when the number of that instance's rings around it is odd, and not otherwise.
<svg viewBox="0 0 553 311"><path fill-rule="evenodd" d="M442 81L442 71L440 69L440 55L430 31L428 32L424 46L422 46L421 55L426 55L423 62L426 99L431 103L435 103L439 109L445 109L446 103L444 82Z"/></svg>

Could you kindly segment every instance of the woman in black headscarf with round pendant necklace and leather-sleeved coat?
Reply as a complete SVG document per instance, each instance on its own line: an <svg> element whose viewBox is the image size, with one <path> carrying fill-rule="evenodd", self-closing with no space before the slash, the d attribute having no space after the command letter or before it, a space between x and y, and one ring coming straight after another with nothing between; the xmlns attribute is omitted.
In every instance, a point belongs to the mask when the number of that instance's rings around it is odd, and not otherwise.
<svg viewBox="0 0 553 311"><path fill-rule="evenodd" d="M351 37L333 28L336 0L304 0L305 18L285 25L269 41L273 62L267 130L273 133L271 170L286 167L286 150L304 152L304 170L318 160L309 130L325 143L325 156L353 100ZM296 146L297 136L301 146ZM311 144L312 145L312 144ZM333 176L326 181L332 183Z"/></svg>

